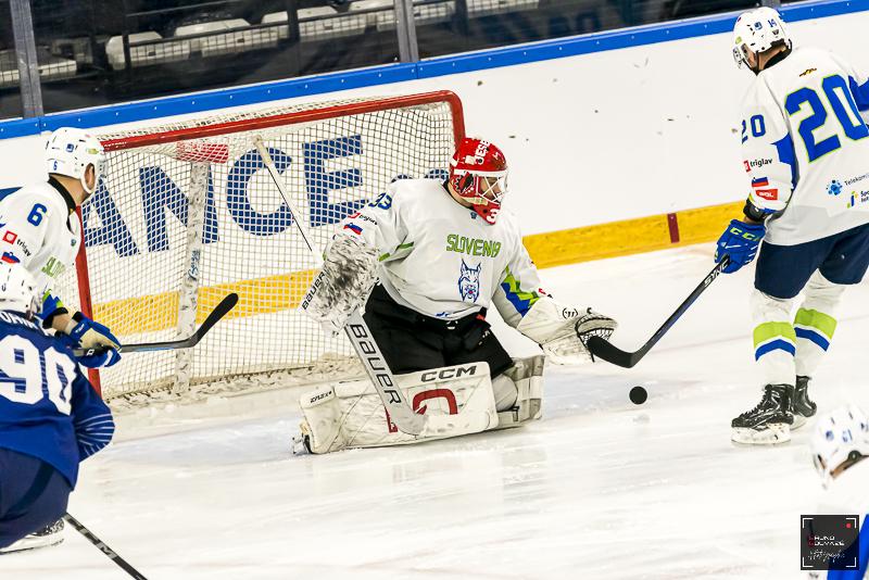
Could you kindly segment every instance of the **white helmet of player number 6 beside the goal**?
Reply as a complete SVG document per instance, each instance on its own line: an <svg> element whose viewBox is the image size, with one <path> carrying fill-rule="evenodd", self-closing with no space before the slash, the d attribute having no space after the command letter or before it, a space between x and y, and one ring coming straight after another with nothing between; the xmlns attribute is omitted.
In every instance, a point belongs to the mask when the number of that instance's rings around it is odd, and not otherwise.
<svg viewBox="0 0 869 580"><path fill-rule="evenodd" d="M93 165L97 173L93 187L85 182L85 171ZM96 137L74 127L61 127L52 133L46 143L46 167L48 173L74 177L81 181L90 196L97 188L105 165L105 150Z"/></svg>

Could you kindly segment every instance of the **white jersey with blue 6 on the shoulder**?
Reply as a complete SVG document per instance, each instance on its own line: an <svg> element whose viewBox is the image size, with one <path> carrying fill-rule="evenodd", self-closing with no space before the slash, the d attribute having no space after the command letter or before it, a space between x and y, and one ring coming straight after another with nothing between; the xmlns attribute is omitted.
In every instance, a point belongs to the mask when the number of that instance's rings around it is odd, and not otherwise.
<svg viewBox="0 0 869 580"><path fill-rule="evenodd" d="M73 266L80 241L75 203L55 184L25 186L0 200L0 260L27 268L40 295Z"/></svg>

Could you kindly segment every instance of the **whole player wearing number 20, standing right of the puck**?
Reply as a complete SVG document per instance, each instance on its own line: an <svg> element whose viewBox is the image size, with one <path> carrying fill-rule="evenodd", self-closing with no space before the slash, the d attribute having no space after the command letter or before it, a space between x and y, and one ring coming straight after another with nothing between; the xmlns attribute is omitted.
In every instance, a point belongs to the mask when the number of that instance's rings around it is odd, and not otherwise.
<svg viewBox="0 0 869 580"><path fill-rule="evenodd" d="M808 383L830 346L836 305L869 265L869 83L834 54L793 48L770 8L739 17L733 55L755 75L742 117L750 193L716 260L729 255L725 273L735 272L763 239L751 310L766 387L733 419L731 437L781 443L815 414Z"/></svg>

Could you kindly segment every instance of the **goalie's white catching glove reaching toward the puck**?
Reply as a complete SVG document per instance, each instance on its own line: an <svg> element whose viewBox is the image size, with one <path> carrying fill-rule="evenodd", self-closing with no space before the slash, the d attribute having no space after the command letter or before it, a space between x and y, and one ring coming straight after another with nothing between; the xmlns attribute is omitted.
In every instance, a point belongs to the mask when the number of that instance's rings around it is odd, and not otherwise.
<svg viewBox="0 0 869 580"><path fill-rule="evenodd" d="M540 344L553 363L569 365L592 358L589 339L607 340L617 326L615 319L591 308L564 306L547 298L528 311L516 330Z"/></svg>

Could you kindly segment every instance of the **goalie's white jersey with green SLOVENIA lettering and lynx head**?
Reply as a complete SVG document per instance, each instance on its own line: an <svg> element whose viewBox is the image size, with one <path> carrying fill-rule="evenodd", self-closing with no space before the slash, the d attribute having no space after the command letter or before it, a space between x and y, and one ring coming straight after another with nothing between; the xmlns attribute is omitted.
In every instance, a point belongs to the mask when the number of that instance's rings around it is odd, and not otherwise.
<svg viewBox="0 0 869 580"><path fill-rule="evenodd" d="M515 327L546 297L514 215L490 225L433 179L395 181L340 232L377 248L387 292L427 316L457 319L494 302Z"/></svg>

